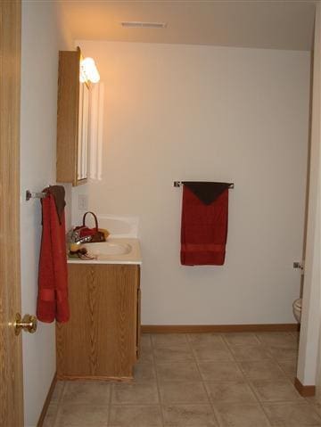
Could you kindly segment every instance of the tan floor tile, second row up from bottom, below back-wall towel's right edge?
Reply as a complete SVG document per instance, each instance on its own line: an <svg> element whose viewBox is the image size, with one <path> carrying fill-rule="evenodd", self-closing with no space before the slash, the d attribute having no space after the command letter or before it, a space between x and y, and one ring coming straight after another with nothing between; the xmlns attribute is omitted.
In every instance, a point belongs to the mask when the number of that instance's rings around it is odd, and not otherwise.
<svg viewBox="0 0 321 427"><path fill-rule="evenodd" d="M237 382L205 382L210 400L216 402L254 402L257 399L245 381Z"/></svg>

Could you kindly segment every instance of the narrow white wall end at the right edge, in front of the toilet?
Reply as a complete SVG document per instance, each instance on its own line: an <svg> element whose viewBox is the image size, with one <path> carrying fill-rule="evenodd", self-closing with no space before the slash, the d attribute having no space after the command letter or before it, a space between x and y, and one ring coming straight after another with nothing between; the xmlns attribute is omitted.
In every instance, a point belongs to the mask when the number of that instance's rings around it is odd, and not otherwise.
<svg viewBox="0 0 321 427"><path fill-rule="evenodd" d="M303 304L300 329L298 379L303 385L321 387L321 281L320 281L320 167L321 167L321 6L317 3L314 45L311 165L309 174L309 217L306 268L303 285ZM321 390L317 390L320 394Z"/></svg>

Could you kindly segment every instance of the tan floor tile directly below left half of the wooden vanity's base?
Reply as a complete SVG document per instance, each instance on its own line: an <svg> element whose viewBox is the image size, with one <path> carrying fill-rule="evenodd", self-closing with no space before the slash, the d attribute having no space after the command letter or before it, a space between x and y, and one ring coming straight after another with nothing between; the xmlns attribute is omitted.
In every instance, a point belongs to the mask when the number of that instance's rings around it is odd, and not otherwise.
<svg viewBox="0 0 321 427"><path fill-rule="evenodd" d="M87 404L87 405L108 405L111 384L99 381L72 381L66 382L62 394L62 403L67 404Z"/></svg>

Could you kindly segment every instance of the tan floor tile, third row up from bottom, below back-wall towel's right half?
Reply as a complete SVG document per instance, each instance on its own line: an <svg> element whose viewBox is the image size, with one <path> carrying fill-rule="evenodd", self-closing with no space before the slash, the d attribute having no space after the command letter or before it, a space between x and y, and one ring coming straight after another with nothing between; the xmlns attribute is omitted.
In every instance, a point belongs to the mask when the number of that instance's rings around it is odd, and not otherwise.
<svg viewBox="0 0 321 427"><path fill-rule="evenodd" d="M204 381L227 382L243 380L241 369L235 362L205 362L199 364Z"/></svg>

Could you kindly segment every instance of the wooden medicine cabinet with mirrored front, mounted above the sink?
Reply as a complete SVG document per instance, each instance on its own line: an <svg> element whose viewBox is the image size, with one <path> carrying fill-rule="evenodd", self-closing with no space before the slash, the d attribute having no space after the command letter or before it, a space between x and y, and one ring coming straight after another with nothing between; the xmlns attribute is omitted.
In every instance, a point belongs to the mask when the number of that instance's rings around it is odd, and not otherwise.
<svg viewBox="0 0 321 427"><path fill-rule="evenodd" d="M59 52L57 182L85 184L88 166L90 84L80 81L80 49Z"/></svg>

